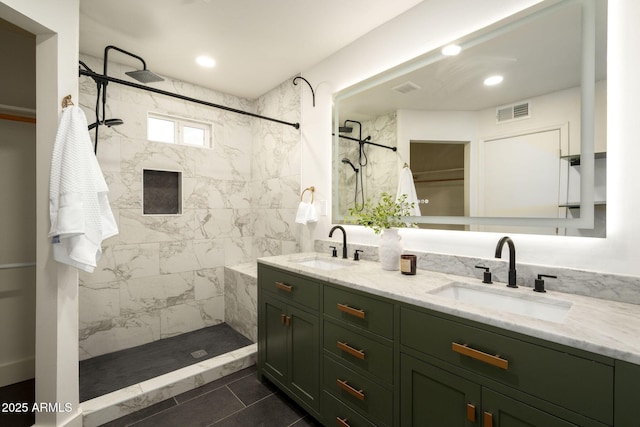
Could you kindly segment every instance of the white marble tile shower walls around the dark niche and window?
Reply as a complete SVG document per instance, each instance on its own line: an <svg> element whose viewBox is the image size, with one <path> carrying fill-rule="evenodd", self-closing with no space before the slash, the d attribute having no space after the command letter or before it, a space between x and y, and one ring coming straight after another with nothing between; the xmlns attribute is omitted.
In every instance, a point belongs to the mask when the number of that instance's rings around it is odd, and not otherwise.
<svg viewBox="0 0 640 427"><path fill-rule="evenodd" d="M102 70L99 59L81 60ZM110 63L109 75L125 68ZM299 115L299 89L286 82L259 100L170 79L152 85L273 117ZM80 79L79 97L93 122L90 78ZM213 148L147 141L148 112L213 123ZM124 120L100 127L97 154L120 234L103 243L96 271L80 275L81 359L223 322L224 266L298 246L299 131L116 84L108 85L106 117ZM142 214L143 168L182 172L182 214Z"/></svg>

